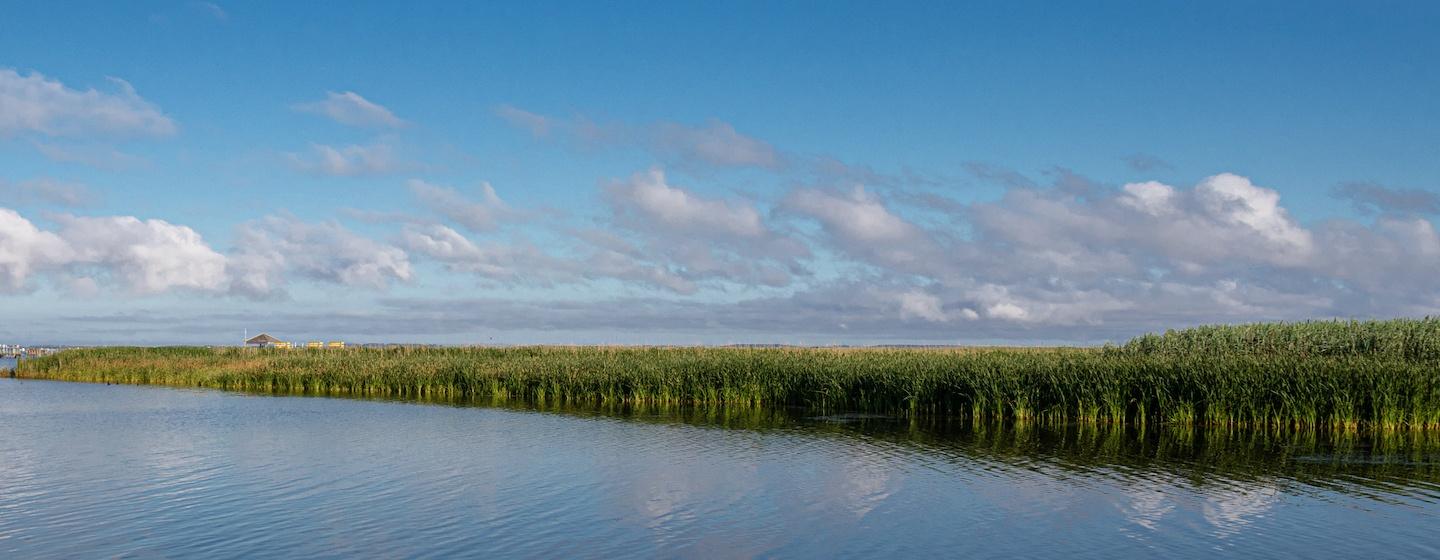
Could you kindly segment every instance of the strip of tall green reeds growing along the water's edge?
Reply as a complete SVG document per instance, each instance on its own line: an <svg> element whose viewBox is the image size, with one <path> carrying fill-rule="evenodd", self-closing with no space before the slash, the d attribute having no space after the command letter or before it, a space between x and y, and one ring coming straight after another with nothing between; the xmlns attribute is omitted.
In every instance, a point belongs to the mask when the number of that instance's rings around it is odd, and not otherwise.
<svg viewBox="0 0 1440 560"><path fill-rule="evenodd" d="M101 347L24 360L14 376L976 422L1437 429L1440 318L1197 327L1093 348Z"/></svg>

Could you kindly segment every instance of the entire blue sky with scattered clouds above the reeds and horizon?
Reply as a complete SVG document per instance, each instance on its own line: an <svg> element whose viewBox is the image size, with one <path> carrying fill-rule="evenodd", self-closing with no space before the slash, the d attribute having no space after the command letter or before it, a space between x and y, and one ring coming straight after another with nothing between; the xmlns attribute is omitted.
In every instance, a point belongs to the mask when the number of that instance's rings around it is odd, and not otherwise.
<svg viewBox="0 0 1440 560"><path fill-rule="evenodd" d="M1434 314L1440 9L1253 4L6 4L0 337Z"/></svg>

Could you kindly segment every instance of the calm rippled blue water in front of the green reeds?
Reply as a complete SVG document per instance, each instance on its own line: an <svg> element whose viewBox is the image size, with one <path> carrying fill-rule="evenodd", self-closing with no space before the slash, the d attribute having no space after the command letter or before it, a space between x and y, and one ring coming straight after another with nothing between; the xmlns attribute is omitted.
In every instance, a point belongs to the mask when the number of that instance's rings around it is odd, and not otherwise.
<svg viewBox="0 0 1440 560"><path fill-rule="evenodd" d="M1436 557L1436 449L0 379L0 557Z"/></svg>

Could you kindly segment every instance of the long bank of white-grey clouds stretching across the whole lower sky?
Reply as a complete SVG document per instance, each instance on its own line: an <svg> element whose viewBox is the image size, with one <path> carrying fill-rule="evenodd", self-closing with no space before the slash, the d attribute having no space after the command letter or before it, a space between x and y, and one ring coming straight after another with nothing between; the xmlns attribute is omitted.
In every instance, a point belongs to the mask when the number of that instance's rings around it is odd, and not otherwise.
<svg viewBox="0 0 1440 560"><path fill-rule="evenodd" d="M636 341L1096 341L1210 321L1440 312L1440 232L1417 212L1374 203L1364 222L1300 222L1277 190L1227 173L1123 186L1064 170L1045 186L986 173L1005 193L959 202L850 183L742 197L655 167L603 183L585 226L520 223L527 212L484 183L415 180L429 217L377 217L396 227L389 240L279 216L240 227L223 255L167 222L59 216L48 229L7 210L0 291L43 275L73 294L274 298L297 281L383 291L415 279L413 258L487 288L570 288L517 292L534 301L408 301L384 310L395 333L593 330ZM541 243L526 239L534 227ZM611 295L564 299L576 289Z"/></svg>

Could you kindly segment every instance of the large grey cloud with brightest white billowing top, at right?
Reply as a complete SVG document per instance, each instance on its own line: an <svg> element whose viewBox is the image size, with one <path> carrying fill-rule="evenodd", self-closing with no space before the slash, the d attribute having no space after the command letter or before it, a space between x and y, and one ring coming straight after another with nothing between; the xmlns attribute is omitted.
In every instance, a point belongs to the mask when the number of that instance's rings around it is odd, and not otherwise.
<svg viewBox="0 0 1440 560"><path fill-rule="evenodd" d="M1316 250L1279 193L1234 174L1188 190L1135 183L1093 200L1015 189L996 203L972 204L968 219L978 249L1024 249L1017 261L1067 276L1133 274L1146 265L1192 274L1237 263L1297 266Z"/></svg>

